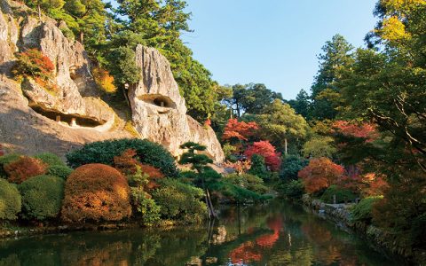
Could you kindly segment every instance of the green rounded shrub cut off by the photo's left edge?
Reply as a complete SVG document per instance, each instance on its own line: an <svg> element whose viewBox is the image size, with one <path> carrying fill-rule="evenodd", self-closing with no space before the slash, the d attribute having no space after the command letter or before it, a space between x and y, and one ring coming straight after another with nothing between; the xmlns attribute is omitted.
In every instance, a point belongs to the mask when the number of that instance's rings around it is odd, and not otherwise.
<svg viewBox="0 0 426 266"><path fill-rule="evenodd" d="M0 219L16 220L20 213L21 198L16 184L0 178Z"/></svg>

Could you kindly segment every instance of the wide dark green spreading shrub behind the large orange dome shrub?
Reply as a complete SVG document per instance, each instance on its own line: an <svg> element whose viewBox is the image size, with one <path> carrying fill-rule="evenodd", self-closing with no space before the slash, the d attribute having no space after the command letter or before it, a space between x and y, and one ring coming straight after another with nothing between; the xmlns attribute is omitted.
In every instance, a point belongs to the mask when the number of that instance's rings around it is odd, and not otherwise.
<svg viewBox="0 0 426 266"><path fill-rule="evenodd" d="M114 157L126 150L135 150L138 160L159 168L165 176L177 177L178 171L173 156L162 145L138 138L122 138L93 142L67 154L67 163L77 168L89 163L102 163L114 166Z"/></svg>

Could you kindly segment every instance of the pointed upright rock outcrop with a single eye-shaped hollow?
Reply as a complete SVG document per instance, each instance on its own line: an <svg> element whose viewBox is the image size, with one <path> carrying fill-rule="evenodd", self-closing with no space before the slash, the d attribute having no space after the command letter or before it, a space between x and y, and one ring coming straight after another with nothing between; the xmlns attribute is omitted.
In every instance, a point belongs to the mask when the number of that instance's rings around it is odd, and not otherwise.
<svg viewBox="0 0 426 266"><path fill-rule="evenodd" d="M215 132L186 115L185 99L179 94L170 64L159 51L138 45L137 66L141 80L130 86L132 119L142 137L161 143L174 155L179 145L193 141L206 145L206 154L216 161L225 159Z"/></svg>

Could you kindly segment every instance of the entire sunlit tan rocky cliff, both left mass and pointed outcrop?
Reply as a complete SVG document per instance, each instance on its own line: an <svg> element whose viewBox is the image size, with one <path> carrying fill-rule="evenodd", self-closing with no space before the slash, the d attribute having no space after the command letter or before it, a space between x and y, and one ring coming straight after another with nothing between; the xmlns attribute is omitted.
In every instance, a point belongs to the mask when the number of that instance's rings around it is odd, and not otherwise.
<svg viewBox="0 0 426 266"><path fill-rule="evenodd" d="M61 25L61 27L64 27ZM31 78L11 74L16 52L36 48L54 64L52 93ZM141 80L131 85L131 120L139 137L164 145L174 155L179 145L206 145L217 162L224 154L212 129L186 115L167 59L152 49L137 48ZM91 75L91 62L81 43L69 40L59 23L15 1L0 0L0 144L17 153L64 154L74 146L108 138L134 137ZM131 130L130 130L131 131Z"/></svg>

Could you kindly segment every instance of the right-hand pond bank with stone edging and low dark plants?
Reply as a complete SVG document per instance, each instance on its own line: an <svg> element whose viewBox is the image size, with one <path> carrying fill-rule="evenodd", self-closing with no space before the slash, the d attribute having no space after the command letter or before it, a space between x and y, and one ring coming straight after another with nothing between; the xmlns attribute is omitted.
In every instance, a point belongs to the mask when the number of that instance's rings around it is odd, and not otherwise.
<svg viewBox="0 0 426 266"><path fill-rule="evenodd" d="M320 217L332 221L344 231L352 231L367 239L375 250L383 254L397 255L408 263L426 264L426 250L413 249L400 243L395 235L383 231L374 225L351 221L350 204L326 204L321 200L306 197L302 200L305 207Z"/></svg>

